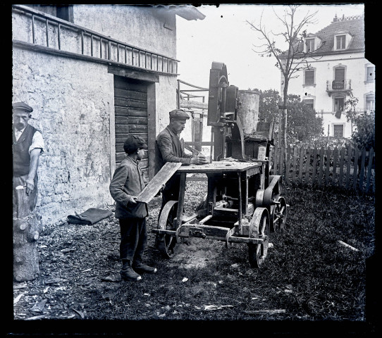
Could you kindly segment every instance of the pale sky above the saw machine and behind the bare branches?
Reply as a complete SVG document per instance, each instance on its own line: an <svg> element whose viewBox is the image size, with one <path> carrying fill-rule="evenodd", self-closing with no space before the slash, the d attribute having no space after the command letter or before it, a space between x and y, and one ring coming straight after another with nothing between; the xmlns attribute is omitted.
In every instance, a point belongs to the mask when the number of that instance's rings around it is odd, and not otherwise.
<svg viewBox="0 0 382 338"><path fill-rule="evenodd" d="M249 23L257 25L262 15L262 23L267 31L283 32L283 26L273 9L282 16L285 7L221 4L217 8L214 5L202 5L197 9L206 15L204 20L185 20L177 16L178 79L208 88L209 70L215 61L226 64L229 84L241 90L276 89L280 92L281 73L275 66L276 58L261 57L253 51L254 46L264 42ZM362 14L364 4L301 5L297 19L316 11L316 23L305 26L307 32L315 33L330 25L335 14L338 18ZM283 47L281 40L278 46Z"/></svg>

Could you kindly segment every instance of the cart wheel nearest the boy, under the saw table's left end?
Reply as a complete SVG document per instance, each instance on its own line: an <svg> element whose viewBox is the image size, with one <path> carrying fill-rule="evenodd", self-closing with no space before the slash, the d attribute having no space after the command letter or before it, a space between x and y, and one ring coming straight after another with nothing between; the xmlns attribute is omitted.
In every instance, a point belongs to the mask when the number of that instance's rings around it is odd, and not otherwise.
<svg viewBox="0 0 382 338"><path fill-rule="evenodd" d="M158 229L176 230L173 220L176 218L177 211L178 201L168 201L159 217ZM171 234L156 234L156 246L164 258L171 258L173 256L175 244L175 236L171 236Z"/></svg>

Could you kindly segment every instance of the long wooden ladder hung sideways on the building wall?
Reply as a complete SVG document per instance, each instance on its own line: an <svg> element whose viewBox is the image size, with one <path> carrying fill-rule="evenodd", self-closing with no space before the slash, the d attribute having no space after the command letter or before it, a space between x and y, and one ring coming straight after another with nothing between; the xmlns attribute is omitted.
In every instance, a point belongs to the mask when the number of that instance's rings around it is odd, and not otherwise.
<svg viewBox="0 0 382 338"><path fill-rule="evenodd" d="M178 60L106 37L53 15L12 6L13 45L63 56L128 65L150 73L178 75ZM16 24L16 25L15 25ZM23 29L24 28L24 29Z"/></svg>

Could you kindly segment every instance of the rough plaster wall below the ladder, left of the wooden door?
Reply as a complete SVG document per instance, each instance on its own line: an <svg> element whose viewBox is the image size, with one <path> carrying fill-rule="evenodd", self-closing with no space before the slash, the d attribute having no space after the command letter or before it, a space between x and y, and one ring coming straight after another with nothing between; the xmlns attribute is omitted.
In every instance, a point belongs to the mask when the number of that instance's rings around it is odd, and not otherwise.
<svg viewBox="0 0 382 338"><path fill-rule="evenodd" d="M13 48L13 101L34 108L45 142L37 211L46 223L111 203L109 80L104 65Z"/></svg>

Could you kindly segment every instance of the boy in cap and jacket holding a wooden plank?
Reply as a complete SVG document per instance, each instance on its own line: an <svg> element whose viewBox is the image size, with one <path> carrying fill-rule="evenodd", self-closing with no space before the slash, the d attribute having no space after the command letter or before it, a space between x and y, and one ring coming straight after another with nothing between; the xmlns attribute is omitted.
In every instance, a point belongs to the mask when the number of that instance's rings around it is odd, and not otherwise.
<svg viewBox="0 0 382 338"><path fill-rule="evenodd" d="M128 135L123 149L127 156L116 168L109 190L116 201L116 218L121 227L121 277L137 281L142 279L140 273L156 273L156 268L143 263L147 244L147 204L136 201L145 186L138 161L142 160L147 144L141 137Z"/></svg>

